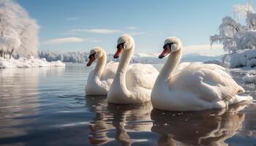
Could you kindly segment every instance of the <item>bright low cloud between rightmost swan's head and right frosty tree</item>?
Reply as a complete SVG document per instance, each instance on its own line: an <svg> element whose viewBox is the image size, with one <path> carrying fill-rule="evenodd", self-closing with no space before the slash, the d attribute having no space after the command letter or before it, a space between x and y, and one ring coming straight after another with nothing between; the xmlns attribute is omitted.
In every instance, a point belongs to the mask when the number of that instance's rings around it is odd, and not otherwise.
<svg viewBox="0 0 256 146"><path fill-rule="evenodd" d="M222 55L225 54L224 50L222 49L223 45L189 45L185 46L183 53L190 54L190 53L200 53L204 55Z"/></svg>

